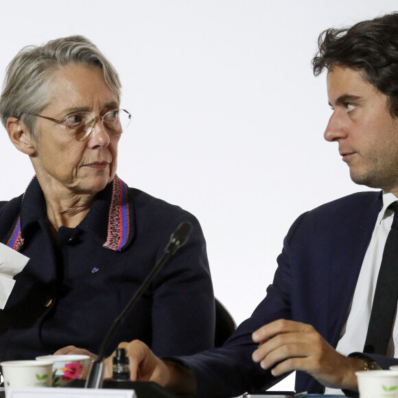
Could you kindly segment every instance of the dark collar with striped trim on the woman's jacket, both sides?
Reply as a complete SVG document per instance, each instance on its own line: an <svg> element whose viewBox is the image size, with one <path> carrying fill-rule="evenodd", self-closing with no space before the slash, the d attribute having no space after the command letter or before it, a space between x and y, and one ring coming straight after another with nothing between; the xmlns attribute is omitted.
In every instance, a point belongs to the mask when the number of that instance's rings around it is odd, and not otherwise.
<svg viewBox="0 0 398 398"><path fill-rule="evenodd" d="M22 199L21 213L14 222L8 246L21 250L27 227L46 218L45 198L36 176L28 185ZM134 207L128 186L118 176L97 194L93 205L78 228L87 231L104 248L125 250L134 237Z"/></svg>

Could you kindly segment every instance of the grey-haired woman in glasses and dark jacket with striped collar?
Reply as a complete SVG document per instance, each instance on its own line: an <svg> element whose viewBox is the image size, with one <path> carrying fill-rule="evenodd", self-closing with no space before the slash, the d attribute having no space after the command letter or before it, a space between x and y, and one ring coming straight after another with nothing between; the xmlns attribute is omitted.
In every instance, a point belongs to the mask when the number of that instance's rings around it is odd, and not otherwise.
<svg viewBox="0 0 398 398"><path fill-rule="evenodd" d="M25 47L7 69L0 116L36 176L0 202L0 239L29 257L0 310L0 360L97 353L113 320L182 221L189 241L159 272L110 342L140 339L161 356L213 345L214 298L204 237L193 215L129 188L117 145L130 113L121 84L89 40Z"/></svg>

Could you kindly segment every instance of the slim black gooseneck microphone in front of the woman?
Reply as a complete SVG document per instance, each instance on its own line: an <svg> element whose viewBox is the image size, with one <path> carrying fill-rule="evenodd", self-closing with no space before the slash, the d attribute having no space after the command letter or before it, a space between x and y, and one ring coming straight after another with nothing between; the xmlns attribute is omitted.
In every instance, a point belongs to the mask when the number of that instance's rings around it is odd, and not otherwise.
<svg viewBox="0 0 398 398"><path fill-rule="evenodd" d="M95 361L92 362L89 375L87 376L86 379L86 384L84 385L84 388L101 388L102 383L104 382L104 353L106 350L106 347L108 347L108 343L111 338L115 335L115 332L121 327L121 325L124 323L124 320L126 319L127 314L130 312L132 307L141 299L141 296L145 292L145 290L148 288L148 285L152 282L156 274L159 272L159 270L164 266L164 264L167 262L167 260L176 253L178 248L183 246L185 242L187 242L189 234L191 233L192 230L192 224L188 221L181 222L181 224L176 228L174 233L172 233L169 243L165 247L165 251L157 262L157 264L152 268L151 272L148 274L148 276L144 279L143 283L135 292L134 296L132 296L132 299L128 302L126 307L124 307L124 310L121 312L121 314L115 319L115 322L113 325L110 327L108 330L108 333L106 333L106 336L104 340L102 341L100 351L98 353L98 357Z"/></svg>

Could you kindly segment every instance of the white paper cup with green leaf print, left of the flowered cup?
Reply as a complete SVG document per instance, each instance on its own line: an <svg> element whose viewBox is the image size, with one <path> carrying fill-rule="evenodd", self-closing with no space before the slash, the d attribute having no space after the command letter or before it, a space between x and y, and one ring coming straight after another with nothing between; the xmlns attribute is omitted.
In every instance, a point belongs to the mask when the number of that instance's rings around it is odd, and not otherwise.
<svg viewBox="0 0 398 398"><path fill-rule="evenodd" d="M10 387L49 387L53 363L45 361L5 361L0 363L5 395Z"/></svg>

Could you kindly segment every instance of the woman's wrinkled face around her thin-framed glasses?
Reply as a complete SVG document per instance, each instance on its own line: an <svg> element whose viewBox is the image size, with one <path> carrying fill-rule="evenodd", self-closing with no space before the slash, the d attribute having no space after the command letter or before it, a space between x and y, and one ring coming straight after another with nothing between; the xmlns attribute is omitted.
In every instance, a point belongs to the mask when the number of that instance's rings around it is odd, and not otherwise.
<svg viewBox="0 0 398 398"><path fill-rule="evenodd" d="M49 92L50 104L40 115L54 119L76 112L89 112L90 118L94 118L119 108L117 94L110 90L102 71L96 67L60 67L51 74ZM110 137L100 120L82 141L55 121L38 117L37 126L38 139L31 159L40 184L95 195L113 180L120 136Z"/></svg>

